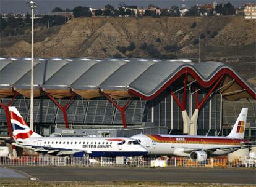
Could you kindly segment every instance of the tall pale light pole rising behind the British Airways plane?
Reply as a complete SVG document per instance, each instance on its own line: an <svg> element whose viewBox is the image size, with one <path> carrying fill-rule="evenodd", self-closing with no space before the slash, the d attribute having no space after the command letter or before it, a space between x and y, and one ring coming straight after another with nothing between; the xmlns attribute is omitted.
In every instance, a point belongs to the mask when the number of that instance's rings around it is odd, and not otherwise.
<svg viewBox="0 0 256 187"><path fill-rule="evenodd" d="M30 81L30 129L33 131L33 110L34 110L34 9L35 1L30 1L31 9L31 81Z"/></svg>

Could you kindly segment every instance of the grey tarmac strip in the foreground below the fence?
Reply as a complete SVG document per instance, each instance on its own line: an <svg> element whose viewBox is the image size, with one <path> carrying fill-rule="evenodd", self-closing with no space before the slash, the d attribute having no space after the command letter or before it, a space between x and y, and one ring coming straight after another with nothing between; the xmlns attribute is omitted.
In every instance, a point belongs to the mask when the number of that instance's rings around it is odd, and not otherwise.
<svg viewBox="0 0 256 187"><path fill-rule="evenodd" d="M28 179L35 178L41 181L161 181L164 183L256 184L256 169L242 168L10 167L7 170L14 170L23 173ZM12 177L15 176L10 175L9 179L11 180Z"/></svg>

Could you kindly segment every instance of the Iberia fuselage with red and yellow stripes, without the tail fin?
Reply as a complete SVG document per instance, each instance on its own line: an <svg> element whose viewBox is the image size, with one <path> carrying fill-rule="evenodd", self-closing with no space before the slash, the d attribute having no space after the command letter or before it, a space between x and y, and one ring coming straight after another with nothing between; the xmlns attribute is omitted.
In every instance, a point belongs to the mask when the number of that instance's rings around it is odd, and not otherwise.
<svg viewBox="0 0 256 187"><path fill-rule="evenodd" d="M229 138L229 137L205 137L205 136L189 136L189 135L134 135L130 137L139 141L147 151L148 155L165 155L165 156L189 156L185 149L212 149L209 156L221 156L232 153L237 149L237 145L248 142L245 139ZM215 148L222 148L216 149Z"/></svg>

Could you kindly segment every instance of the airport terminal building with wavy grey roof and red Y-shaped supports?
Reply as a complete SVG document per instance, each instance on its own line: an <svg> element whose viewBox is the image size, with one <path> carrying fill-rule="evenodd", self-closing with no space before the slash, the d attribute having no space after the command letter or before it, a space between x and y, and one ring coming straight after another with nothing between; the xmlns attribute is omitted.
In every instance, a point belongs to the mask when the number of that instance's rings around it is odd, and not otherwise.
<svg viewBox="0 0 256 187"><path fill-rule="evenodd" d="M30 121L30 62L0 58L1 137L10 135L7 106ZM34 129L42 135L227 135L247 107L245 136L256 139L255 89L221 62L37 58L34 74Z"/></svg>

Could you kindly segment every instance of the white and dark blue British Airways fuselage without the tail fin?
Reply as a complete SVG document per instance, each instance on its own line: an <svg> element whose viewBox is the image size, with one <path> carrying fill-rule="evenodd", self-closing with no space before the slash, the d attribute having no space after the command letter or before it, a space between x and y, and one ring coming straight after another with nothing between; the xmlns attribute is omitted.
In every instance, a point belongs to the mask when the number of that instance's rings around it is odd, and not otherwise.
<svg viewBox="0 0 256 187"><path fill-rule="evenodd" d="M90 157L115 157L115 156L141 156L147 154L147 149L130 138L103 138L103 137L38 137L28 138L21 145L38 147L38 152L44 153L43 149L69 151L77 150L89 152ZM41 150L39 150L41 149ZM83 156L83 152L75 153L74 156Z"/></svg>

